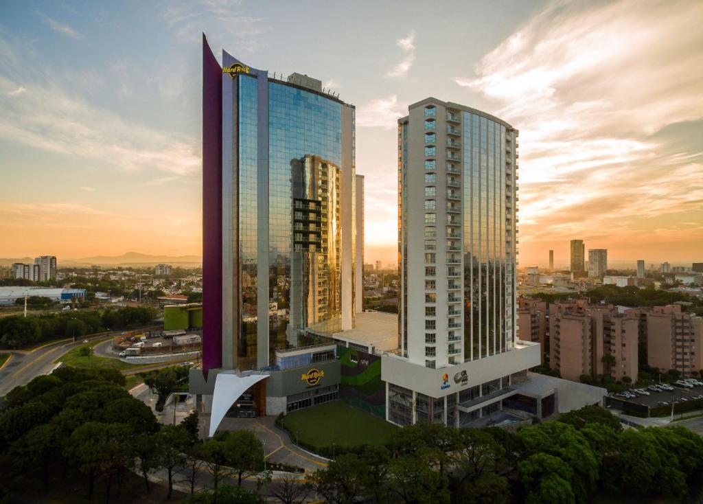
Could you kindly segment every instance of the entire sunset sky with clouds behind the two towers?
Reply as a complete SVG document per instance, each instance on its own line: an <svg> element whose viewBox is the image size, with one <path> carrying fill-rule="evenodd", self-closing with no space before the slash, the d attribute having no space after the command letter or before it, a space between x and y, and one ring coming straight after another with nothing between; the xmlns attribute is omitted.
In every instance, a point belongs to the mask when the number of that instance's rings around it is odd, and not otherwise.
<svg viewBox="0 0 703 504"><path fill-rule="evenodd" d="M703 1L0 3L0 257L200 254L200 37L357 107L366 260L396 261L396 118L520 129L520 263L703 261ZM352 7L353 5L353 7Z"/></svg>

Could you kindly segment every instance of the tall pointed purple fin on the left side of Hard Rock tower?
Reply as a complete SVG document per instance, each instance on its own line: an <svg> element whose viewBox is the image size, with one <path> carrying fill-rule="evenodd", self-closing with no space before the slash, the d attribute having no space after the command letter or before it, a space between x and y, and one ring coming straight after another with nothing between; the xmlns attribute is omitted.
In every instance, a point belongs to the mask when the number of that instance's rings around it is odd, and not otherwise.
<svg viewBox="0 0 703 504"><path fill-rule="evenodd" d="M222 366L222 68L202 35L202 373Z"/></svg>

